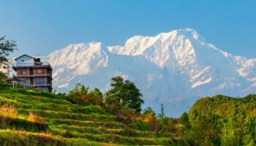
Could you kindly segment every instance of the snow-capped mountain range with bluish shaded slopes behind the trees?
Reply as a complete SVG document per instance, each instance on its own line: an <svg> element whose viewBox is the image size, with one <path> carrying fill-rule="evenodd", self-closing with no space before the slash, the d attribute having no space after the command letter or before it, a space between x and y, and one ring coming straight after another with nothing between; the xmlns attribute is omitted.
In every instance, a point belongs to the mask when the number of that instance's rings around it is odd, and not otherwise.
<svg viewBox="0 0 256 146"><path fill-rule="evenodd" d="M102 91L121 75L143 93L144 107L177 117L201 96L256 93L256 58L233 56L193 29L155 37L135 36L124 46L100 42L68 45L43 57L53 66L53 88L67 92L81 82Z"/></svg>

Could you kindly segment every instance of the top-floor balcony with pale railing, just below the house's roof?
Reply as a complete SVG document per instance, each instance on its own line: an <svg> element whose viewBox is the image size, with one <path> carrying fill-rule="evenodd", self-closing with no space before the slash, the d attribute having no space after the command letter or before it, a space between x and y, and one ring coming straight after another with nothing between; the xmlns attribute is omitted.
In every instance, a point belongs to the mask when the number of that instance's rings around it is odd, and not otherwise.
<svg viewBox="0 0 256 146"><path fill-rule="evenodd" d="M15 69L15 70L18 69L18 68L24 68L24 67L28 67L28 68L45 68L45 67L49 67L50 69L52 69L52 67L50 66L50 64L48 64L48 62L12 64L12 69Z"/></svg>

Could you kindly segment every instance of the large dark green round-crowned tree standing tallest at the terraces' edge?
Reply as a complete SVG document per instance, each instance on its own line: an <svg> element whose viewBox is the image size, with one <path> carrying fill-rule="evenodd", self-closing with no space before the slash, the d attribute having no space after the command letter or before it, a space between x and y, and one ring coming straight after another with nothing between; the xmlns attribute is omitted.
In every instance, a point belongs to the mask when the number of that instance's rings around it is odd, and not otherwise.
<svg viewBox="0 0 256 146"><path fill-rule="evenodd" d="M144 101L135 83L129 80L124 81L122 77L113 77L111 80L112 89L105 94L105 103L109 106L115 104L119 110L125 107L140 112Z"/></svg>

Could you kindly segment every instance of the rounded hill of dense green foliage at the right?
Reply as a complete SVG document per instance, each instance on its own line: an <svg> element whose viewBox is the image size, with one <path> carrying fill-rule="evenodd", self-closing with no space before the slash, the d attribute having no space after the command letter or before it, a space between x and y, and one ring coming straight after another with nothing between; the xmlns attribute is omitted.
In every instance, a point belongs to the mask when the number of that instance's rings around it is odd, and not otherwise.
<svg viewBox="0 0 256 146"><path fill-rule="evenodd" d="M255 145L256 95L199 99L180 120L197 145Z"/></svg>

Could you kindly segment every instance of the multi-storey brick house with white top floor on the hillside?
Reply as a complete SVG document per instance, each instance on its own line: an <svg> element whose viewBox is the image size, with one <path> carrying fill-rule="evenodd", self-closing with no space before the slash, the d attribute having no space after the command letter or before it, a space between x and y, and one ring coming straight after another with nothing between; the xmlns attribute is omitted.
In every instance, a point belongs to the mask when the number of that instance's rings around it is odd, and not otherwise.
<svg viewBox="0 0 256 146"><path fill-rule="evenodd" d="M17 75L13 77L22 80L20 84L52 92L53 69L50 64L26 54L15 58L15 61L16 64L12 64L12 69L17 72Z"/></svg>

